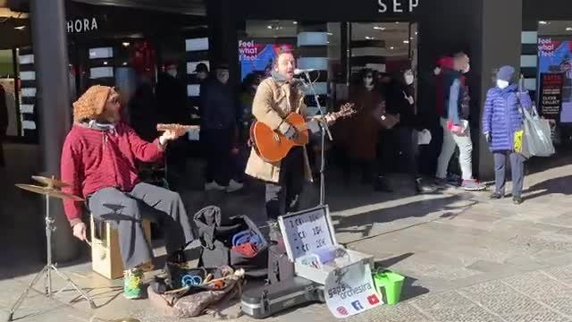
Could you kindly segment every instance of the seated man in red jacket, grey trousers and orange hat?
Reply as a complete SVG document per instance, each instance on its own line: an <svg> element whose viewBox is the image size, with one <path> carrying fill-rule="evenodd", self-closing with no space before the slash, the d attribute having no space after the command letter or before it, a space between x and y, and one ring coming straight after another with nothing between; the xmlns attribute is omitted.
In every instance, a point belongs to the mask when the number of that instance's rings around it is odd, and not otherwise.
<svg viewBox="0 0 572 322"><path fill-rule="evenodd" d="M140 266L153 257L142 219L164 228L168 260L182 261L182 250L194 240L181 196L140 182L136 160L156 162L167 142L181 137L184 129L167 130L153 142L139 138L122 122L119 94L113 88L93 86L73 104L74 124L62 151L62 180L71 184L64 192L82 196L95 220L107 220L117 229L124 272L124 295L141 296ZM81 220L83 203L63 201L73 235L86 240Z"/></svg>

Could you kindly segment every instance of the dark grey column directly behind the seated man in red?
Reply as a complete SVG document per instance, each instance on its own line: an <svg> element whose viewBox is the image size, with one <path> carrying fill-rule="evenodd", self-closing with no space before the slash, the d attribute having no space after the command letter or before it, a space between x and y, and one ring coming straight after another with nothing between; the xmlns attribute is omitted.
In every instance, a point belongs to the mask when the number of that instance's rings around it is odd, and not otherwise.
<svg viewBox="0 0 572 322"><path fill-rule="evenodd" d="M64 0L31 0L30 17L38 83L42 170L45 175L59 177L63 140L71 127ZM79 246L63 214L62 201L53 199L50 211L57 227L53 239L55 260L75 258Z"/></svg>

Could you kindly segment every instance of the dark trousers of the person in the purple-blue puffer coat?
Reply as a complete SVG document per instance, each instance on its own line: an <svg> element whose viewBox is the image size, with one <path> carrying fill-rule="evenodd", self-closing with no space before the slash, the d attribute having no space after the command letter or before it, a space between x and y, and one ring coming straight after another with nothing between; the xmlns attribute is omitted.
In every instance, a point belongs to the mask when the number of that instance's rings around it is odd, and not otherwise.
<svg viewBox="0 0 572 322"><path fill-rule="evenodd" d="M506 179L507 156L510 157L510 169L512 171L512 196L520 197L525 181L525 157L512 151L494 151L494 182L496 191L504 194Z"/></svg>

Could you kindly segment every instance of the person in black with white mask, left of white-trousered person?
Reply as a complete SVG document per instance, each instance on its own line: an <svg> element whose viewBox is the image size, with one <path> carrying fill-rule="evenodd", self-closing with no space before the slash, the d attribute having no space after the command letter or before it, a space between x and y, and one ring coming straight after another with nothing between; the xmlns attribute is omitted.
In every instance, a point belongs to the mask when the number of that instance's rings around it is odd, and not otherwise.
<svg viewBox="0 0 572 322"><path fill-rule="evenodd" d="M389 137L392 140L387 140L387 144L391 144L392 147L384 149L385 154L390 155L383 156L383 158L393 158L395 152L400 151L403 160L407 163L407 171L413 179L416 192L431 193L435 189L422 182L417 163L418 130L422 130L422 126L416 115L414 82L415 76L410 69L395 72L391 77L387 90L387 112L399 114L400 123L388 130L391 132Z"/></svg>

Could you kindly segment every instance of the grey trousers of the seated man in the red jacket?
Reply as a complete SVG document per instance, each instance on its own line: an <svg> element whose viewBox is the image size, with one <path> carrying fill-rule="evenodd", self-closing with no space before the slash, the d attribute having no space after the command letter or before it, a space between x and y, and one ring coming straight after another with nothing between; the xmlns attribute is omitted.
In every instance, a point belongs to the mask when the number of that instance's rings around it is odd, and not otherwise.
<svg viewBox="0 0 572 322"><path fill-rule="evenodd" d="M107 221L117 229L125 269L153 258L141 225L144 218L163 227L167 254L194 240L181 196L151 184L138 183L130 192L102 189L89 196L88 209L95 220Z"/></svg>

